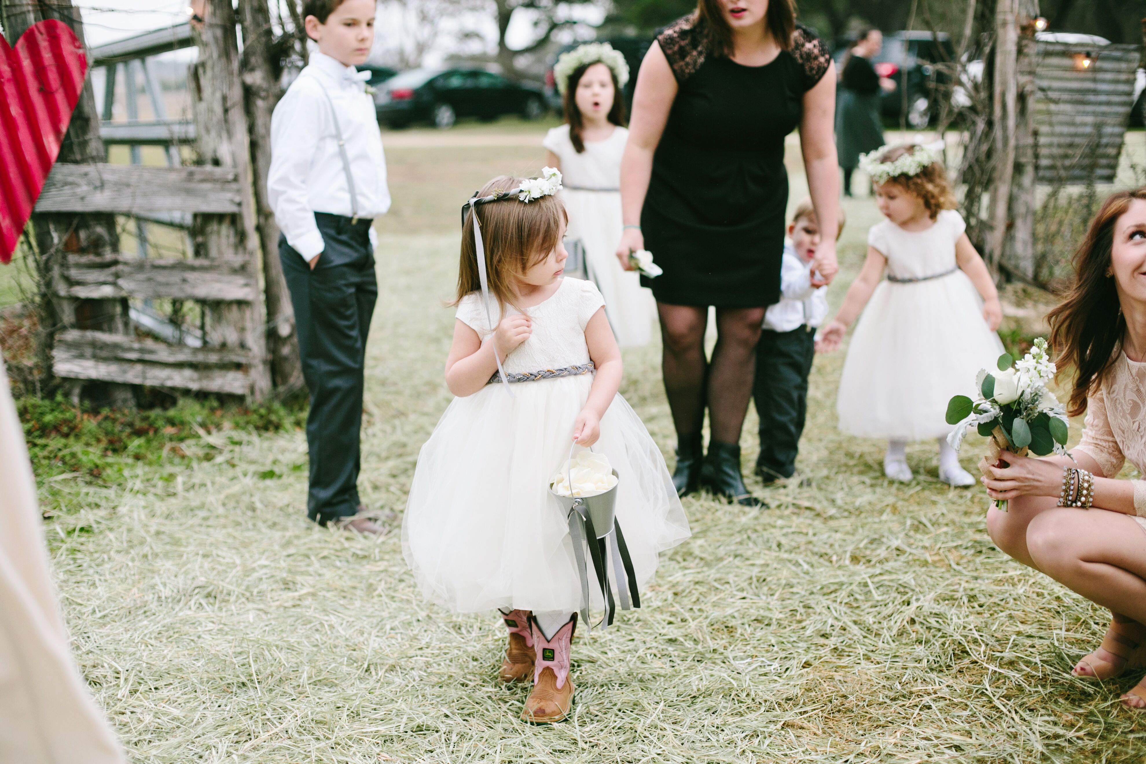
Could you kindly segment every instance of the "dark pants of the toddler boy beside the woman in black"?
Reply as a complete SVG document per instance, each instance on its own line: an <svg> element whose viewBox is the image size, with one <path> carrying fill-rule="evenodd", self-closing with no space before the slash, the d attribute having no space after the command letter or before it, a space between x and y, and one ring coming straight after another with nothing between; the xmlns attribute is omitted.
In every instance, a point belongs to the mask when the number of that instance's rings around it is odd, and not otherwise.
<svg viewBox="0 0 1146 764"><path fill-rule="evenodd" d="M752 397L760 416L760 457L766 475L791 478L808 412L808 375L816 355L815 331L766 329L756 345Z"/></svg>

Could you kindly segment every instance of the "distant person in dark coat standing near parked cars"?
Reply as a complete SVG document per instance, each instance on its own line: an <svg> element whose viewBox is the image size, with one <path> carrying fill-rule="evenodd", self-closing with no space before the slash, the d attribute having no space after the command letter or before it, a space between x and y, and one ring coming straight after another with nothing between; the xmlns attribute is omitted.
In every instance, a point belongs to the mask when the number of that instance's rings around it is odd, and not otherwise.
<svg viewBox="0 0 1146 764"><path fill-rule="evenodd" d="M880 77L871 58L884 47L878 29L861 32L843 63L835 100L835 153L843 168L843 195L851 196L851 172L859 165L859 155L884 145L879 97L882 90L894 90L895 81Z"/></svg>

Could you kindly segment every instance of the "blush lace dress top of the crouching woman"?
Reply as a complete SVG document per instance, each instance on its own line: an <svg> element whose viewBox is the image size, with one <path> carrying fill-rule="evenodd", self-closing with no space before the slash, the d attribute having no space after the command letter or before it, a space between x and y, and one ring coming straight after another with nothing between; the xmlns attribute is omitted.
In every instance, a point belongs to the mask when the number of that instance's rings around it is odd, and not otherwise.
<svg viewBox="0 0 1146 764"><path fill-rule="evenodd" d="M1107 478L1117 476L1128 459L1146 475L1146 363L1118 353L1102 384L1086 396L1086 419L1075 450L1098 462ZM1146 530L1146 480L1131 482L1135 520Z"/></svg>

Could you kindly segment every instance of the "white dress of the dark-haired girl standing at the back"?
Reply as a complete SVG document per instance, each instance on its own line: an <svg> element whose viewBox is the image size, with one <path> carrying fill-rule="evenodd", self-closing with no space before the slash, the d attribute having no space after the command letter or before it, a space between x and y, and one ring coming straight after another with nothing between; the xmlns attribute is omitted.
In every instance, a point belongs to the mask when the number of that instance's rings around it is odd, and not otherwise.
<svg viewBox="0 0 1146 764"><path fill-rule="evenodd" d="M576 152L570 126L555 127L542 145L562 162L562 198L570 213L565 233L580 239L591 278L605 297L605 313L621 347L649 344L654 315L652 291L641 286L635 270L625 270L617 259L623 230L621 219L621 156L629 132L614 127L604 141L589 141ZM657 253L653 252L656 258Z"/></svg>

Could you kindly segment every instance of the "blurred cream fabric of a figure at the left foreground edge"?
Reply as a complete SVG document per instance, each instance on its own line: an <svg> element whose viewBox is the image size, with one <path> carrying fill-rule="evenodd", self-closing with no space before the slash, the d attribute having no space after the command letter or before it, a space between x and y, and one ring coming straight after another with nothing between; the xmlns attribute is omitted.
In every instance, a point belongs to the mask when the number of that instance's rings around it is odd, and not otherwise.
<svg viewBox="0 0 1146 764"><path fill-rule="evenodd" d="M0 361L0 762L123 764L72 660L36 506L36 482Z"/></svg>

